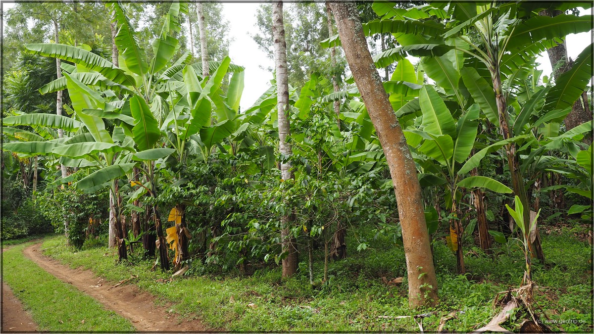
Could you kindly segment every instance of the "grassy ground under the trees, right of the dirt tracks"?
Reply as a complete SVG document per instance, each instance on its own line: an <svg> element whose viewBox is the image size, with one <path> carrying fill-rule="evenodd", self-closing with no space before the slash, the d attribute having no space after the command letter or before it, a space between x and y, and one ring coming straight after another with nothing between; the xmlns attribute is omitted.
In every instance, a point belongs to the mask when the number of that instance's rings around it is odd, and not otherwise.
<svg viewBox="0 0 594 334"><path fill-rule="evenodd" d="M63 237L50 238L42 246L46 254L72 267L92 269L111 281L137 275L138 279L132 283L162 301L174 303L174 312L200 317L214 330L416 332L415 320L390 317L435 311L423 319L424 330L435 331L441 317L457 311L456 319L446 322L444 330L469 332L486 324L498 312L492 307L495 293L517 287L522 280L523 256L513 242L498 248L494 259L472 248L476 254L466 256L467 271L472 276L455 275L454 256L445 245L436 243L441 302L437 308L410 311L406 282L388 287L380 279L406 276L402 248L381 240L375 247L375 251L361 253L349 249L349 258L330 264L330 285L312 290L307 275L298 274L282 281L280 270L274 267L258 270L252 276L192 275L161 283L157 280L168 279L171 273L151 272L149 261L134 259L133 265L116 264L115 251L92 248L73 252L65 247ZM587 263L591 247L568 230L546 235L543 247L548 251L551 267L545 270L535 266L533 277L541 286L535 294L535 303L552 320L565 320L560 327L552 326L553 330L591 332L592 269ZM304 265L301 263L302 272L306 270ZM321 273L320 266L315 270ZM519 329L516 322L504 326Z"/></svg>

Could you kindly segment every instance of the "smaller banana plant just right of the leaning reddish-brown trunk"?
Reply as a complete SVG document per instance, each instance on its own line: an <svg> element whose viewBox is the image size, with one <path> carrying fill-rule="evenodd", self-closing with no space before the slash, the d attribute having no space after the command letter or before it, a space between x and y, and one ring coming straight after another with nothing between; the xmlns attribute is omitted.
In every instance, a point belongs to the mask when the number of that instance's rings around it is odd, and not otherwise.
<svg viewBox="0 0 594 334"><path fill-rule="evenodd" d="M432 86L425 85L419 92L422 121L418 129L404 130L406 141L415 161L425 173L434 175L434 182L445 185L445 204L450 210L450 236L448 245L456 251L458 270L465 272L462 251L462 222L459 217L459 188L486 188L497 193L511 193L501 182L483 176L466 177L468 171L460 169L470 158L475 147L478 128L479 106L473 104L457 120ZM437 180L437 181L435 181Z"/></svg>

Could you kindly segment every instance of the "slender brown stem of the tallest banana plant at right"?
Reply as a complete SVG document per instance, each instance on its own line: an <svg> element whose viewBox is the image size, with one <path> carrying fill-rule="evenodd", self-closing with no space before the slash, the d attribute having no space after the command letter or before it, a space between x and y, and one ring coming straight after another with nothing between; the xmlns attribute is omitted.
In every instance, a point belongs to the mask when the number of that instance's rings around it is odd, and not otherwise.
<svg viewBox="0 0 594 334"><path fill-rule="evenodd" d="M491 78L493 80L493 90L495 92L495 102L497 102L501 134L503 135L504 139L508 139L511 138L511 131L507 116L507 103L505 102L505 96L503 94L503 89L501 88L501 77L498 62L492 61L489 70L491 70ZM505 155L507 156L507 166L510 169L514 194L520 198L522 205L525 207L524 225L526 227L526 231L530 231L530 201L527 195L526 187L524 186L524 178L522 172L520 171L520 162L516 155L516 144L509 143L505 145L504 148ZM545 255L542 252L541 237L538 233L538 228L536 228L535 241L529 242L529 249L532 254L534 254L536 259L541 260L543 264L545 263Z"/></svg>

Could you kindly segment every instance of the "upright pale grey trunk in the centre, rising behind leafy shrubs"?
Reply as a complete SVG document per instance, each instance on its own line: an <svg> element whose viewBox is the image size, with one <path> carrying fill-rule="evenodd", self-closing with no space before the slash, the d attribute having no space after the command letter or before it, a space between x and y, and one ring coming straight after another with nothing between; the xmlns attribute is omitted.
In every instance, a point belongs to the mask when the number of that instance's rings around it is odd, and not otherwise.
<svg viewBox="0 0 594 334"><path fill-rule="evenodd" d="M283 155L291 155L291 146L287 143L290 136L289 116L289 83L287 74L287 44L285 42L285 26L283 23L283 2L273 4L272 9L272 36L274 40L274 61L276 62L276 85L277 85L277 112L279 118L279 150ZM280 174L283 179L292 179L291 165L288 161L280 164ZM289 230L294 216L287 213L282 219L281 239L283 253L287 253L283 259L283 278L294 275L297 272L298 258L296 240Z"/></svg>

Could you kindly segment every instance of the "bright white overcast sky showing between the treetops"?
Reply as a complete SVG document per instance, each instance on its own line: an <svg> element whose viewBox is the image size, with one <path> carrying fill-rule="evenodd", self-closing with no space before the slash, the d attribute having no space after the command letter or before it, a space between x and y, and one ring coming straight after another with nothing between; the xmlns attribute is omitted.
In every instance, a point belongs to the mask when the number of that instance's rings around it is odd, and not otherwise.
<svg viewBox="0 0 594 334"><path fill-rule="evenodd" d="M3 2L4 10L11 8L14 4ZM245 110L251 106L260 95L270 87L272 74L263 68L274 67L273 59L269 59L266 53L258 49L258 45L251 38L258 32L256 27L256 12L261 2L253 0L223 1L223 15L229 21L229 37L233 42L229 45L229 56L233 64L245 67L245 88L241 99L241 109ZM285 4L285 9L292 4ZM582 15L592 14L592 10L581 10ZM592 31L590 33L570 34L567 36L567 53L572 59L582 52L583 48L592 43ZM412 59L411 59L412 60ZM544 75L550 75L551 64L548 56L537 59L541 65L539 68Z"/></svg>

